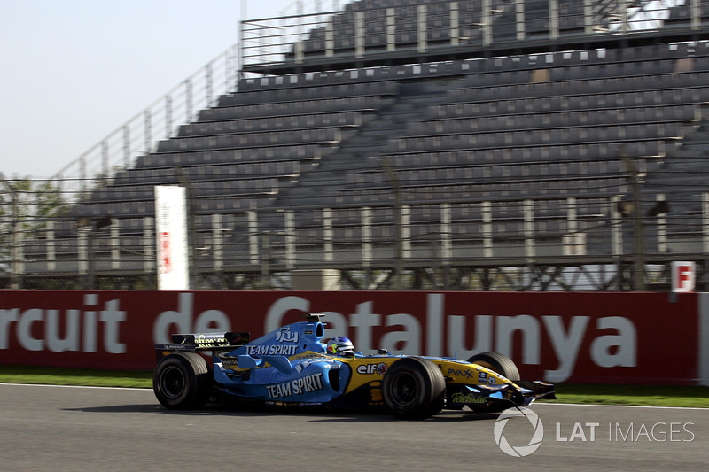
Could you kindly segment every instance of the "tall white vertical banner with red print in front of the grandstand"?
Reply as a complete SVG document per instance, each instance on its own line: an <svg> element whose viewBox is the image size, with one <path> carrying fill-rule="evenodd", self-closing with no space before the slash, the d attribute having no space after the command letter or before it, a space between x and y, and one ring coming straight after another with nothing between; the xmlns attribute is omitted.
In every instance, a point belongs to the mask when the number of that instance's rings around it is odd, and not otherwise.
<svg viewBox="0 0 709 472"><path fill-rule="evenodd" d="M187 193L184 187L155 186L158 290L190 290L187 249Z"/></svg>

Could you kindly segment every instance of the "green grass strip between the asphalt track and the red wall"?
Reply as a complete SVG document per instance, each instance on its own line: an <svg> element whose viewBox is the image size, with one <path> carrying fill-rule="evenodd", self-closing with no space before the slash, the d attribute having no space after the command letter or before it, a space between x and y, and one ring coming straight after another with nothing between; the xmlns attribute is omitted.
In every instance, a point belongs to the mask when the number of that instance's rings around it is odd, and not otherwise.
<svg viewBox="0 0 709 472"><path fill-rule="evenodd" d="M41 383L152 389L151 371L0 366L0 383ZM709 387L557 383L556 400L544 403L684 406L709 408Z"/></svg>

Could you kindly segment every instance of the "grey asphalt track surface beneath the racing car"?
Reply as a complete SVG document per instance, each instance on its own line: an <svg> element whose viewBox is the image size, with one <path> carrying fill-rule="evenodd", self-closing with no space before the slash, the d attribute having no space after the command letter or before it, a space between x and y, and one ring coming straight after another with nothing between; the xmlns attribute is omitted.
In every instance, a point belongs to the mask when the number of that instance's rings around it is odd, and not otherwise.
<svg viewBox="0 0 709 472"><path fill-rule="evenodd" d="M0 405L3 471L709 470L709 409L534 404L543 440L513 457L497 415L173 412L151 390L14 384ZM534 438L526 417L499 430L512 447Z"/></svg>

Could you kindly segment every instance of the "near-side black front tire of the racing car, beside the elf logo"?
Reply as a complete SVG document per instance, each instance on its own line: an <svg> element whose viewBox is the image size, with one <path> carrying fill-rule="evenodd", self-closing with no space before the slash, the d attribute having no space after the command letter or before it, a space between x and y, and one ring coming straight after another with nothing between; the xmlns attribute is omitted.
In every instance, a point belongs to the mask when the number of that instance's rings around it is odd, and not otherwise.
<svg viewBox="0 0 709 472"><path fill-rule="evenodd" d="M443 408L446 381L430 360L405 357L386 371L382 393L393 414L409 420L423 420Z"/></svg>

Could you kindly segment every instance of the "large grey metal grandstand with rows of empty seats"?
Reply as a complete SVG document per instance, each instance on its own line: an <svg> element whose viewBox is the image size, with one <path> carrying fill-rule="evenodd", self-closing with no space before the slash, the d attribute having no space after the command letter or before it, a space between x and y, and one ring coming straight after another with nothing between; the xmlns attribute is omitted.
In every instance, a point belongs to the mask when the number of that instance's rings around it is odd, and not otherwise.
<svg viewBox="0 0 709 472"><path fill-rule="evenodd" d="M194 288L666 290L673 260L702 286L708 19L362 0L244 20L237 88L27 241L27 284L154 275L153 186L183 184Z"/></svg>

